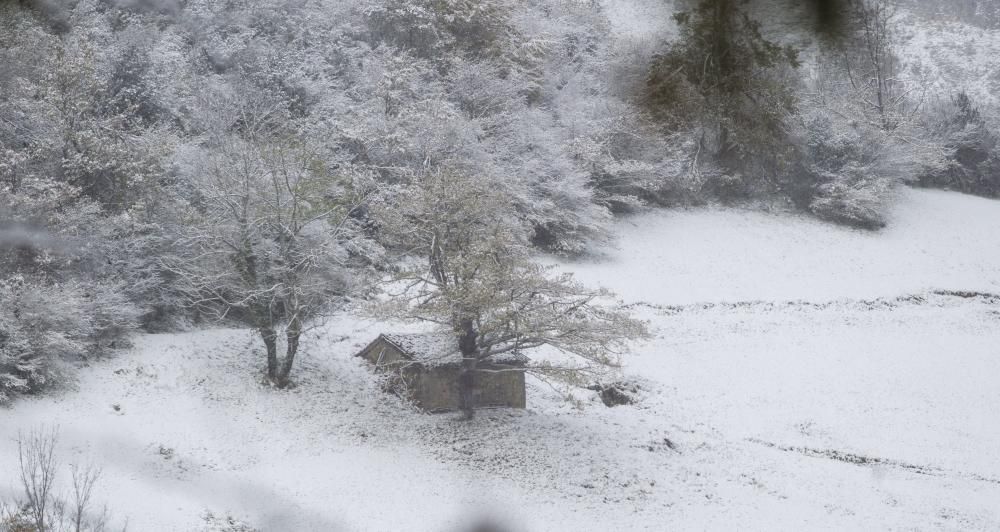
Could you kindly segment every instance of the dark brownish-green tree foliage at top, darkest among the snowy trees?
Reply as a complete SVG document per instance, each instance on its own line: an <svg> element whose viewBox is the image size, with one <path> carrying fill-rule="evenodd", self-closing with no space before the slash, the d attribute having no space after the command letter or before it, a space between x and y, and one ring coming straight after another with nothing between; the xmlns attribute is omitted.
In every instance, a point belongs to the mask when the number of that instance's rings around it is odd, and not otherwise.
<svg viewBox="0 0 1000 532"><path fill-rule="evenodd" d="M760 178L784 169L797 52L765 39L738 0L700 0L674 18L680 37L653 58L647 107L668 127L696 125L730 170Z"/></svg>

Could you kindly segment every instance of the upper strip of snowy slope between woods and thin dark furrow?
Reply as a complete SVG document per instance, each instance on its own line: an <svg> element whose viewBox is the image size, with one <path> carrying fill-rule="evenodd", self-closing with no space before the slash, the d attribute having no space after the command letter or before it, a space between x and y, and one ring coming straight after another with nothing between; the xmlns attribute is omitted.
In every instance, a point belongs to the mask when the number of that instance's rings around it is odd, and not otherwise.
<svg viewBox="0 0 1000 532"><path fill-rule="evenodd" d="M621 222L617 249L573 271L628 302L666 305L1000 292L996 201L900 194L879 232L787 213L654 211Z"/></svg>

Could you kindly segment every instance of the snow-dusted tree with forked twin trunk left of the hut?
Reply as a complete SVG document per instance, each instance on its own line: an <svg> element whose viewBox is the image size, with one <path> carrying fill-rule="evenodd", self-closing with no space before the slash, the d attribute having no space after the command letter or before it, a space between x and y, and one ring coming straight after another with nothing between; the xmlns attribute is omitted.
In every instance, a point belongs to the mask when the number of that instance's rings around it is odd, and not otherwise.
<svg viewBox="0 0 1000 532"><path fill-rule="evenodd" d="M256 329L266 380L283 388L310 320L350 288L352 213L366 191L294 136L225 136L205 173L182 253L165 266L192 304Z"/></svg>

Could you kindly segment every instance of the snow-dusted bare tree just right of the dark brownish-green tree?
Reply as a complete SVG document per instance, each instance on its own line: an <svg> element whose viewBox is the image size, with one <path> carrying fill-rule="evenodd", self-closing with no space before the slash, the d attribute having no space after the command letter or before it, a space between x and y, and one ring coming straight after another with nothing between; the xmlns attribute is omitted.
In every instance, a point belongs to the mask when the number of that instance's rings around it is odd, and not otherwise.
<svg viewBox="0 0 1000 532"><path fill-rule="evenodd" d="M852 33L825 50L799 117L806 123L804 163L810 210L877 228L893 187L947 166L947 150L920 120L928 84L908 74L895 53L895 0L847 2Z"/></svg>

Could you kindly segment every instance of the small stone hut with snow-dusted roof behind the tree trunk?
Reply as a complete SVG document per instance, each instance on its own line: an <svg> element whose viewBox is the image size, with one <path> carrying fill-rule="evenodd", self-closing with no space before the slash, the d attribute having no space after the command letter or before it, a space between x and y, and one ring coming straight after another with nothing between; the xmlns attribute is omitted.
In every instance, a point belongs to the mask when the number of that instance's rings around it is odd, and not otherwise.
<svg viewBox="0 0 1000 532"><path fill-rule="evenodd" d="M460 408L458 379L462 354L448 333L381 334L360 353L375 371L390 373L391 388L420 408L447 412ZM524 408L524 366L520 353L481 360L476 379L476 407Z"/></svg>

